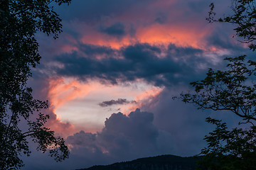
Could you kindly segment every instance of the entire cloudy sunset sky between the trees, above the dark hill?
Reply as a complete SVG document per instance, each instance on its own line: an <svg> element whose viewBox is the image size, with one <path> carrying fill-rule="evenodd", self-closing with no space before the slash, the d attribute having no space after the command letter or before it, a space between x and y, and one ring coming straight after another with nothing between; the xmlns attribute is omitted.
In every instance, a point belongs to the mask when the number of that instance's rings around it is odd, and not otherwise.
<svg viewBox="0 0 256 170"><path fill-rule="evenodd" d="M229 0L214 2L217 16L230 11ZM189 83L203 79L208 68L223 69L223 58L247 52L232 25L206 21L210 3L73 0L56 6L63 33L57 40L36 35L42 59L28 85L35 98L49 101L47 126L65 138L70 159L55 163L32 142L23 169L193 156L214 128L208 116L236 125L232 113L172 99L193 91Z"/></svg>

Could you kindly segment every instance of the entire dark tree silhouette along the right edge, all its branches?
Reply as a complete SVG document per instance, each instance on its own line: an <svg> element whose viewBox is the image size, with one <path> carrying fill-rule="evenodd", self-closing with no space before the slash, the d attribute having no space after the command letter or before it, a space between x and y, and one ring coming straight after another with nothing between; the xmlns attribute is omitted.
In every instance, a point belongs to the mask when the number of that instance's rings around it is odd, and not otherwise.
<svg viewBox="0 0 256 170"><path fill-rule="evenodd" d="M233 23L240 42L255 51L256 7L254 0L233 0L233 14L215 19L214 4L210 4L209 22ZM255 169L256 166L256 62L245 55L225 58L229 63L223 70L208 69L206 78L192 82L193 93L182 93L181 100L198 109L231 111L241 118L239 124L250 128L228 130L221 120L207 118L216 126L204 140L208 146L201 150L198 169Z"/></svg>

